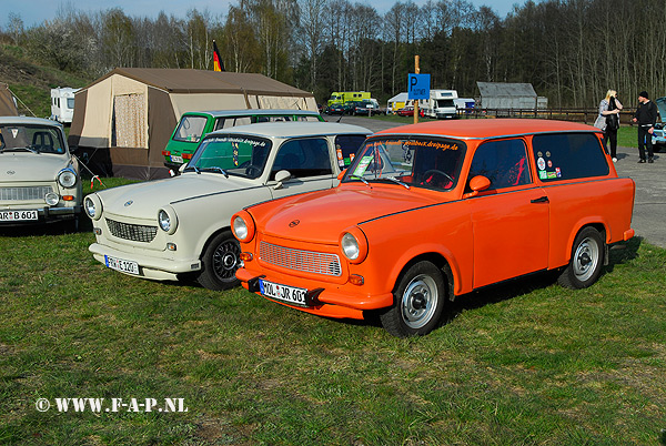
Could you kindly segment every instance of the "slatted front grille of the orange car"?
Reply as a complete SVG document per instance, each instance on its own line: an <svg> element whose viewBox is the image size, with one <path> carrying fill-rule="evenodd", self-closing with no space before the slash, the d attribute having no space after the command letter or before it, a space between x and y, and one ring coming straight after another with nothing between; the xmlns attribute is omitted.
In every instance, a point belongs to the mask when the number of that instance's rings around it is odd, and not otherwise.
<svg viewBox="0 0 666 446"><path fill-rule="evenodd" d="M294 271L340 277L342 268L336 254L294 250L261 242L259 255L263 262Z"/></svg>

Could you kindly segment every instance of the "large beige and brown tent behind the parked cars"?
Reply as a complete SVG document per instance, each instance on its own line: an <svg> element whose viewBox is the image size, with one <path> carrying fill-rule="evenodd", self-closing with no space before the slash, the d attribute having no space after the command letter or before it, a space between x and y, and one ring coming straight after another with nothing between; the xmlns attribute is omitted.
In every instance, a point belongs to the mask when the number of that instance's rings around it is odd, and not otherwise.
<svg viewBox="0 0 666 446"><path fill-rule="evenodd" d="M95 174L168 176L162 150L186 111L316 111L312 93L255 73L122 68L74 97L69 144Z"/></svg>

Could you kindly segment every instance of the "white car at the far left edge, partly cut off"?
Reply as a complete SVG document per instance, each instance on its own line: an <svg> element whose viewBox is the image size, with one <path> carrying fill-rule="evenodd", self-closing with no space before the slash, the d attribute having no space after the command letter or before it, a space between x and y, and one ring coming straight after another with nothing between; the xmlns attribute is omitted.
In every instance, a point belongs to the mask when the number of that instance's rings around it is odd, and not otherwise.
<svg viewBox="0 0 666 446"><path fill-rule="evenodd" d="M81 213L79 162L62 124L0 116L0 226L71 222Z"/></svg>

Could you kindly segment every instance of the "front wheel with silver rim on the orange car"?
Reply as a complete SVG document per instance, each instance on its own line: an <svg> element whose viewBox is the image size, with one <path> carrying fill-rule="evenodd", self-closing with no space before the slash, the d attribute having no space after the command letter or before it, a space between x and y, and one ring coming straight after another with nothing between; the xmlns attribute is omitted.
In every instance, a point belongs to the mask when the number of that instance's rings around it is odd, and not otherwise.
<svg viewBox="0 0 666 446"><path fill-rule="evenodd" d="M393 306L381 314L384 328L394 336L425 335L440 324L446 287L442 271L422 261L401 275Z"/></svg>

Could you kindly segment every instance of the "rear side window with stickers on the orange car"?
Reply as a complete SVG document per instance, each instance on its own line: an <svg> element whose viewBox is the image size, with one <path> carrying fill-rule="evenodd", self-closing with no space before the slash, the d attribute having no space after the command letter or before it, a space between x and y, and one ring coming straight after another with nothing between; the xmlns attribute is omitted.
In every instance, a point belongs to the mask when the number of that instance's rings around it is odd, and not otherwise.
<svg viewBox="0 0 666 446"><path fill-rule="evenodd" d="M594 133L538 134L532 139L536 172L541 181L605 176L608 162Z"/></svg>

